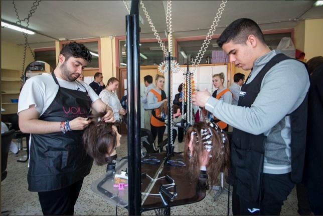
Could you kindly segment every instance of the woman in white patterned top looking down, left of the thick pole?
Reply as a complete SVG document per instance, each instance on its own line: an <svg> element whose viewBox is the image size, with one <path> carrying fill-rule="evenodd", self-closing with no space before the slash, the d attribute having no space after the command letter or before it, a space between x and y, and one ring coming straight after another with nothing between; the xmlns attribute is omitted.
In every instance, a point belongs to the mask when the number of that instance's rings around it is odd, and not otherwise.
<svg viewBox="0 0 323 216"><path fill-rule="evenodd" d="M101 91L99 97L105 104L112 108L114 119L116 122L120 123L121 117L126 114L126 110L122 108L118 95L116 94L116 89L118 86L119 79L116 77L109 78L106 88Z"/></svg>

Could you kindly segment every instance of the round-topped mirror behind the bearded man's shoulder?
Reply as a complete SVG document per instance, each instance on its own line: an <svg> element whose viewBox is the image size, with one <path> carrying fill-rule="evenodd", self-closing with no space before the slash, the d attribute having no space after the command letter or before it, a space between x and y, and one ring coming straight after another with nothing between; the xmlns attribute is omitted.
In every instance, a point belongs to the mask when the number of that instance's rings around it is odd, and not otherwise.
<svg viewBox="0 0 323 216"><path fill-rule="evenodd" d="M28 64L24 73L24 83L26 80L35 75L41 75L44 72L51 73L54 69L45 61L36 60Z"/></svg>

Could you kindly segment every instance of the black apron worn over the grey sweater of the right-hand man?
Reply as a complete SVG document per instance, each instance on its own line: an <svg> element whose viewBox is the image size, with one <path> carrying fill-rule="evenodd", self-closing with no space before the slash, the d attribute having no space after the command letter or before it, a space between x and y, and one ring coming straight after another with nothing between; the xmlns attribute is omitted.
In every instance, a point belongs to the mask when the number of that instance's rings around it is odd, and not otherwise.
<svg viewBox="0 0 323 216"><path fill-rule="evenodd" d="M250 107L256 99L261 81L267 71L276 63L291 59L284 54L277 54L260 70L248 84L241 86L238 106ZM247 81L246 81L247 82ZM294 182L301 180L304 162L306 137L307 96L303 102L290 113L291 123L291 178ZM254 135L233 128L231 147L231 171L234 177L236 192L247 201L257 201L261 173L263 169L266 136L262 133Z"/></svg>

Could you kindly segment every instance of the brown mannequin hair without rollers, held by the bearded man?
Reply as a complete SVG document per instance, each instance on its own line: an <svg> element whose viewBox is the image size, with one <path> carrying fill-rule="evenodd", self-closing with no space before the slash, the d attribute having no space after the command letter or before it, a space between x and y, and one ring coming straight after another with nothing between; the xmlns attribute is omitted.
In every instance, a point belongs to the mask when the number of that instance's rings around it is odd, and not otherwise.
<svg viewBox="0 0 323 216"><path fill-rule="evenodd" d="M116 132L113 130L113 123L106 123L100 118L105 113L95 113L91 116L91 123L83 132L83 145L86 152L94 159L98 165L104 165L106 155L110 155L116 148Z"/></svg>

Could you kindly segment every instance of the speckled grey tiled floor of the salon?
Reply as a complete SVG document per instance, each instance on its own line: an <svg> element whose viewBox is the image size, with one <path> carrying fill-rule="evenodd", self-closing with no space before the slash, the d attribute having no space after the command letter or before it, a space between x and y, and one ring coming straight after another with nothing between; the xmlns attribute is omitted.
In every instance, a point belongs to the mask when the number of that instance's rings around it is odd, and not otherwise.
<svg viewBox="0 0 323 216"><path fill-rule="evenodd" d="M126 136L121 137L121 146L117 150L118 156L127 153ZM183 142L175 142L175 151L183 150ZM23 155L24 152L19 153ZM8 175L1 182L2 210L10 209L10 215L41 215L42 210L36 192L28 191L27 171L28 163L17 162L17 157L10 152L8 158ZM100 195L91 190L92 182L104 174L106 166L93 164L91 173L85 177L80 196L76 202L75 215L115 215L116 206L109 204ZM172 215L226 215L228 195L222 193L214 201L215 191L207 192L206 197L196 203L171 208ZM231 197L230 197L231 201ZM230 204L231 206L231 204ZM127 215L127 209L118 206L118 215ZM142 212L152 215L154 211ZM230 209L230 214L232 211ZM282 206L281 215L298 215L296 189L294 188Z"/></svg>

